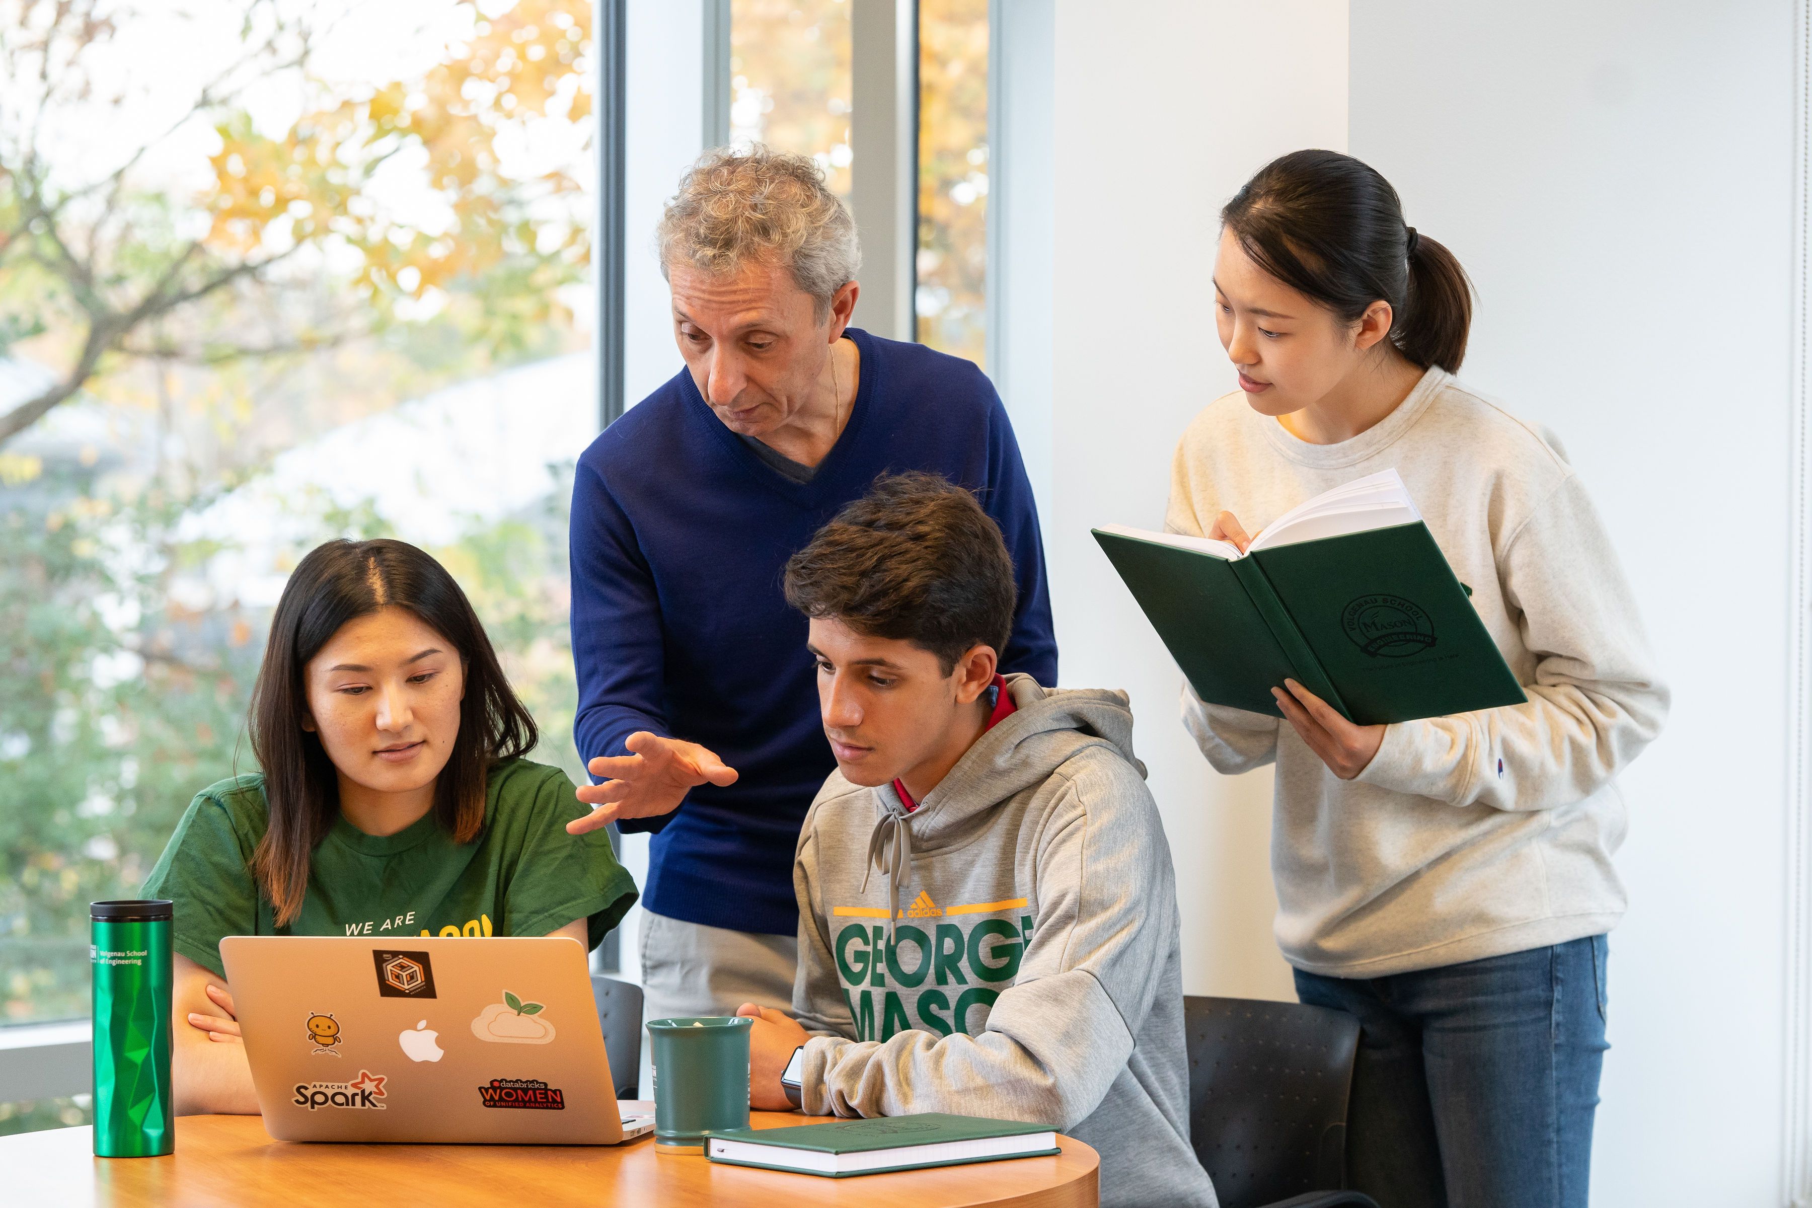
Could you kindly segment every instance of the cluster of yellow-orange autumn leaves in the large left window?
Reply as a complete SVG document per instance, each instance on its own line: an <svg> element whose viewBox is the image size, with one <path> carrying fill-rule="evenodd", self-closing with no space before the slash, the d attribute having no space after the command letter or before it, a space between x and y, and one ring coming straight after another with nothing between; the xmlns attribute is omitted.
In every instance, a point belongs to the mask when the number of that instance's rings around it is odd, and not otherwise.
<svg viewBox="0 0 1812 1208"><path fill-rule="evenodd" d="M245 263L274 234L277 246L333 239L357 252L350 279L368 308L393 315L397 297L464 288L480 302L469 333L493 342L520 342L522 324L551 319L554 288L583 272L589 244L578 214L553 221L544 203L578 194L580 183L564 172L509 177L496 143L524 121L589 116L591 5L516 0L489 18L475 0L467 7L473 36L422 80L323 96L326 105L281 138L261 136L243 110L221 116L201 243ZM419 163L451 223L410 223L370 199L397 158ZM487 304L495 297L529 306Z"/></svg>

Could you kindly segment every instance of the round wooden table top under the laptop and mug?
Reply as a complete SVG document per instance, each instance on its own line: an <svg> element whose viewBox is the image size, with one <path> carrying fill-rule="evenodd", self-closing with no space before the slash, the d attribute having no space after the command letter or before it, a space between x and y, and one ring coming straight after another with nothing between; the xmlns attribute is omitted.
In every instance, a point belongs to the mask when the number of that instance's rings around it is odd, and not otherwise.
<svg viewBox="0 0 1812 1208"><path fill-rule="evenodd" d="M652 1112L654 1105L643 1110ZM750 1112L748 1123L776 1128L810 1117ZM1094 1208L1094 1150L1069 1137L1060 1141L1064 1152L1055 1157L821 1179L656 1154L652 1136L622 1146L297 1145L272 1141L257 1116L183 1116L169 1157L94 1157L89 1128L0 1137L0 1203L20 1208Z"/></svg>

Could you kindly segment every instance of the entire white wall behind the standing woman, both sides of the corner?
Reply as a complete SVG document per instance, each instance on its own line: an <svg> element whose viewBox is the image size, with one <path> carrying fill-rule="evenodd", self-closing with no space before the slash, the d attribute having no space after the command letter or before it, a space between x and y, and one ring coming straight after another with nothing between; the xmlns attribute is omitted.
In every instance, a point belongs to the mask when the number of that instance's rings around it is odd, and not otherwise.
<svg viewBox="0 0 1812 1208"><path fill-rule="evenodd" d="M1011 344L1004 368L1047 491L1064 681L1132 692L1190 992L1290 996L1270 784L1201 764L1087 529L1156 523L1176 435L1232 386L1214 212L1270 156L1350 129L1473 273L1464 377L1564 438L1674 688L1624 777L1596 1204L1781 1203L1792 13L1165 0L1127 20L1058 0L1047 163L1020 139L997 165L1004 212L1040 181L1051 197L1051 283L1013 295L1015 252L1006 299L1009 340L1049 322L1049 386Z"/></svg>

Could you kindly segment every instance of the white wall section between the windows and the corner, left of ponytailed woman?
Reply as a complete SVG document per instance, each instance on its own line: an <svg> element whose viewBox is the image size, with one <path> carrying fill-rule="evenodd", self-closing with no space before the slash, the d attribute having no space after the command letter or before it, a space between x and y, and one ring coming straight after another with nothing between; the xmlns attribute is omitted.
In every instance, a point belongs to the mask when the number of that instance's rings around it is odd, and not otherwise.
<svg viewBox="0 0 1812 1208"><path fill-rule="evenodd" d="M1178 436L1234 388L1209 292L1216 214L1270 158L1345 147L1346 4L1151 0L1134 16L1058 0L1055 67L1056 255L1036 321L1055 348L1044 532L1062 679L1132 695L1176 858L1185 989L1294 998L1270 933L1270 775L1209 770L1178 719L1176 665L1089 529L1160 525ZM1035 301L1009 302L1015 322ZM1033 406L1011 379L1009 404Z"/></svg>

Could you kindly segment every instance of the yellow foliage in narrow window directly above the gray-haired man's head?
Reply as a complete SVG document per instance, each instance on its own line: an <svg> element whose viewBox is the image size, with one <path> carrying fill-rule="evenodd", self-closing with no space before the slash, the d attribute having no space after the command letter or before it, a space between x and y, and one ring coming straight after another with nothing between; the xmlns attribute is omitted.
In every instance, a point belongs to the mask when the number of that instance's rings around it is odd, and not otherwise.
<svg viewBox="0 0 1812 1208"><path fill-rule="evenodd" d="M730 143L817 159L850 197L850 0L730 0Z"/></svg>

